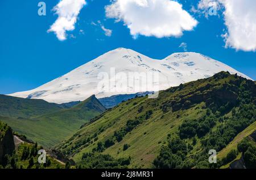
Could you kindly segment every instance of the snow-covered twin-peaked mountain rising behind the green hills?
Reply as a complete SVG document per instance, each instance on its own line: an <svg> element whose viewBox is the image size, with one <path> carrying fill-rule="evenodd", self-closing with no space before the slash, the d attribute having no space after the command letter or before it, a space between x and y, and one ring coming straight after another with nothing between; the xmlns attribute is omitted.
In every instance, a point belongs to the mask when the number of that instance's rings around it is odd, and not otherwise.
<svg viewBox="0 0 256 180"><path fill-rule="evenodd" d="M66 103L83 101L92 94L104 98L116 94L164 90L221 71L250 79L230 66L199 53L174 53L163 60L155 60L131 49L118 48L36 89L10 95ZM143 74L147 78L154 74L154 77L152 81L140 81L140 77L129 73L141 73L142 78Z"/></svg>

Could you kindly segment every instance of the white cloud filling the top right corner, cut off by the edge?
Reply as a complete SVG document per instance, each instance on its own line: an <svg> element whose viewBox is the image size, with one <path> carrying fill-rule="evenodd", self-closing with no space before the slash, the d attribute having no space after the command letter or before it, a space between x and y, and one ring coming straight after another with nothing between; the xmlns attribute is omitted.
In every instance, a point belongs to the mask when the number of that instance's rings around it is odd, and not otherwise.
<svg viewBox="0 0 256 180"><path fill-rule="evenodd" d="M211 2L224 8L224 20L227 32L222 35L225 47L237 51L256 50L256 1L255 0L201 0L199 9L207 10Z"/></svg>

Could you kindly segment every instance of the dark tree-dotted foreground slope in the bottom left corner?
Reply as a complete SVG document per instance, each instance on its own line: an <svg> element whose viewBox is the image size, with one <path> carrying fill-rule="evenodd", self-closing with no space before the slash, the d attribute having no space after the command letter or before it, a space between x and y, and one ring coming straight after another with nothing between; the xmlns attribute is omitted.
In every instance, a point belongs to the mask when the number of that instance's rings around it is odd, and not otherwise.
<svg viewBox="0 0 256 180"><path fill-rule="evenodd" d="M0 121L0 169L56 169L65 167L63 162L48 154L47 163L38 164L38 150L43 149L43 147L20 139L20 142L16 144L15 139L18 138L16 132L13 132L7 124Z"/></svg>

